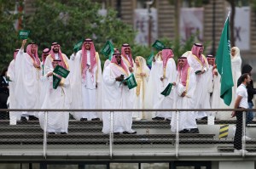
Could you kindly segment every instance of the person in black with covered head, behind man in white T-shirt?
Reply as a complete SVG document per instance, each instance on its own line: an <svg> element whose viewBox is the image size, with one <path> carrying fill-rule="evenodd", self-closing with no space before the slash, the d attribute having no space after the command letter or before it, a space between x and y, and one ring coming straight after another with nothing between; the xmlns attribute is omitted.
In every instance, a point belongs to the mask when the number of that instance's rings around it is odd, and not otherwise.
<svg viewBox="0 0 256 169"><path fill-rule="evenodd" d="M252 70L253 70L253 67L251 65L244 65L241 68L241 74L247 73L251 77L251 82L250 84L247 85L248 109L253 109L253 95L256 94L256 88L253 87ZM241 79L238 79L237 87L240 84L241 84ZM252 121L253 121L253 111L247 111L246 125Z"/></svg>

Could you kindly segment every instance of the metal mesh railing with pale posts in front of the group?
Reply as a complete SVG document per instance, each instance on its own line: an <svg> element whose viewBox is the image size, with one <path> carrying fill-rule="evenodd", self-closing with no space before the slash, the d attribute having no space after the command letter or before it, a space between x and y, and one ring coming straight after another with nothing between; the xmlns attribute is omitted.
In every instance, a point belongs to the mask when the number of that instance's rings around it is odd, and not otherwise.
<svg viewBox="0 0 256 169"><path fill-rule="evenodd" d="M256 111L256 109L248 109ZM233 152L234 137L231 128L234 120L216 120L214 125L207 125L207 121L197 121L200 133L179 133L179 113L191 111L214 111L229 113L241 111L241 109L205 109L205 110L0 110L3 111L39 111L44 112L44 124L48 119L48 113L55 111L81 112L96 111L108 113L109 134L102 133L102 121L69 121L69 132L67 134L49 135L47 126L44 130L39 126L38 121L18 121L17 125L9 125L9 121L1 121L0 132L0 155L23 155L23 156L88 156L108 157L110 159L118 156L172 156L174 158L185 156L246 156L256 155L256 131L253 126L247 128L253 133L254 138L246 138L246 111L242 115L242 138L241 152ZM113 116L115 112L143 111L150 113L155 111L169 111L176 114L176 132L171 132L170 121L152 121L151 119L133 121L133 127L137 134L115 135L113 133ZM236 119L236 118L235 118ZM220 123L228 124L228 135L226 138L219 138ZM256 121L253 121L256 124ZM168 127L169 126L169 127ZM148 132L149 131L149 132ZM248 151L246 151L248 150Z"/></svg>

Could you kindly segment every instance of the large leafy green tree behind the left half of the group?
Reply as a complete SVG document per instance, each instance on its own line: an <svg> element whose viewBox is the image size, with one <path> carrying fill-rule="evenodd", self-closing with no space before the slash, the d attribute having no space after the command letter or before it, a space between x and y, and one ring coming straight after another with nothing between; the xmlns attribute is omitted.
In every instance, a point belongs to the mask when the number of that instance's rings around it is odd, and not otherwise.
<svg viewBox="0 0 256 169"><path fill-rule="evenodd" d="M135 31L118 20L111 8L102 16L98 12L100 5L90 0L36 0L35 5L35 14L26 16L24 28L32 31L31 39L38 42L40 50L59 42L69 56L73 45L86 37L94 40L97 51L107 40L115 47L125 42L133 44Z"/></svg>

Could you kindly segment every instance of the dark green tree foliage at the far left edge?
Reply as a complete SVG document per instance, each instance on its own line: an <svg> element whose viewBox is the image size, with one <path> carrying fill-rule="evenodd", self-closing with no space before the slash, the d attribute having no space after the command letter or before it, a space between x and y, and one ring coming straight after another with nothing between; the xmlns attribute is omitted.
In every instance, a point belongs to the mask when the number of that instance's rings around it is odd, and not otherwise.
<svg viewBox="0 0 256 169"><path fill-rule="evenodd" d="M18 34L15 31L15 20L19 14L13 14L15 1L0 0L0 70L9 65L15 48L18 48Z"/></svg>

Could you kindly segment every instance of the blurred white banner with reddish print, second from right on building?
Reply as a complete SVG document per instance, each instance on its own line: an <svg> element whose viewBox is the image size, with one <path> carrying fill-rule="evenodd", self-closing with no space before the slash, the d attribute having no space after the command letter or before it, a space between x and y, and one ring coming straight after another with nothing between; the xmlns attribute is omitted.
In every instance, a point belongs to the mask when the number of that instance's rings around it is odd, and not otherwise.
<svg viewBox="0 0 256 169"><path fill-rule="evenodd" d="M179 32L182 42L193 34L197 34L196 41L203 40L203 13L204 8L181 8L179 20Z"/></svg>

